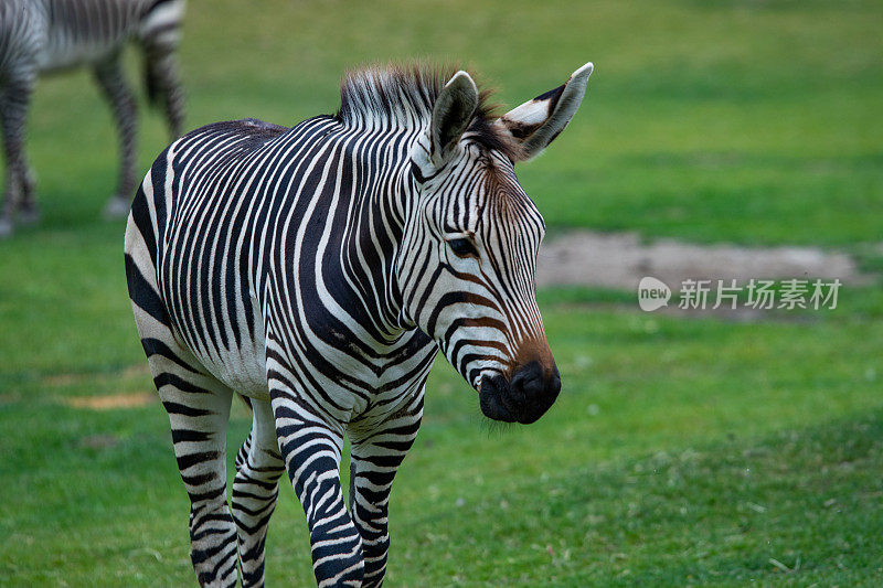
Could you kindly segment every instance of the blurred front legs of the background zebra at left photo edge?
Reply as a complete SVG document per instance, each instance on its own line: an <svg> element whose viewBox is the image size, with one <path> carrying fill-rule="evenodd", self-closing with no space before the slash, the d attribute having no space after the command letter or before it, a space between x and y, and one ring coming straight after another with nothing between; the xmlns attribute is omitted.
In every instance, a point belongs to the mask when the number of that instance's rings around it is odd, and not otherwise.
<svg viewBox="0 0 883 588"><path fill-rule="evenodd" d="M0 128L6 156L6 182L0 196L0 237L12 234L15 209L21 209L24 222L35 222L39 216L33 174L24 151L28 105L35 79L35 74L25 74L8 78L0 87Z"/></svg>

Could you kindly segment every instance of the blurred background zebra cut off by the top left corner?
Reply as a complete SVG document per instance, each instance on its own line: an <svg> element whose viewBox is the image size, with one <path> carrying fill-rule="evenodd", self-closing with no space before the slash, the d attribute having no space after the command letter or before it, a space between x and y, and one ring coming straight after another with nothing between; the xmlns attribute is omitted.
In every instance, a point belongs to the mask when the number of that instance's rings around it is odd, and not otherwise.
<svg viewBox="0 0 883 588"><path fill-rule="evenodd" d="M166 111L172 138L181 135L183 93L175 50L184 0L2 0L0 2L0 120L7 172L0 196L0 237L13 217L39 217L34 175L24 151L25 118L39 74L91 67L109 104L120 143L119 178L105 214L128 214L137 183L135 97L123 72L123 50L143 50L148 98Z"/></svg>

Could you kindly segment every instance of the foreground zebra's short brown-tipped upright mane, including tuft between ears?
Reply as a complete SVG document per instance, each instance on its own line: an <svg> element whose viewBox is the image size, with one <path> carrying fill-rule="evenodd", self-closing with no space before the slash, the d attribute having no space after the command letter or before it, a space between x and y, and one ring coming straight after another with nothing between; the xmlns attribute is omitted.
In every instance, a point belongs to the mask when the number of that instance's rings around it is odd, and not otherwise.
<svg viewBox="0 0 883 588"><path fill-rule="evenodd" d="M344 125L372 121L384 127L413 127L428 124L442 88L458 71L447 65L432 67L375 65L348 72L340 85L340 109L334 117ZM493 92L479 92L478 108L467 128L469 140L517 160L520 147L492 125L497 105Z"/></svg>

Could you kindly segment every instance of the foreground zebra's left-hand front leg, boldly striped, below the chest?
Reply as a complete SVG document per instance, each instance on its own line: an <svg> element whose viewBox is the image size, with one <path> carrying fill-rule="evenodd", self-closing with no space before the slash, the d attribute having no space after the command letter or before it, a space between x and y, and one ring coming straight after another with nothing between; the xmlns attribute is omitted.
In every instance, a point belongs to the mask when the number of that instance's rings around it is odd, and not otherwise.
<svg viewBox="0 0 883 588"><path fill-rule="evenodd" d="M273 399L276 434L310 530L312 571L319 586L362 586L362 542L340 487L342 431L332 430L286 394Z"/></svg>

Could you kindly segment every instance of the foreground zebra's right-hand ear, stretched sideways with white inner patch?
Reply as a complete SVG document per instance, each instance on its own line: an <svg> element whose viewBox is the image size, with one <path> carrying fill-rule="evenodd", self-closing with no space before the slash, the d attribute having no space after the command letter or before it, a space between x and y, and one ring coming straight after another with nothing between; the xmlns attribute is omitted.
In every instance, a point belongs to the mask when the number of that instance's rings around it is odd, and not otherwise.
<svg viewBox="0 0 883 588"><path fill-rule="evenodd" d="M575 71L563 85L509 110L494 122L521 146L521 161L540 154L571 121L586 94L592 62Z"/></svg>

